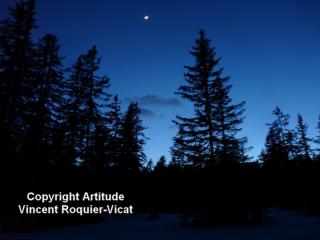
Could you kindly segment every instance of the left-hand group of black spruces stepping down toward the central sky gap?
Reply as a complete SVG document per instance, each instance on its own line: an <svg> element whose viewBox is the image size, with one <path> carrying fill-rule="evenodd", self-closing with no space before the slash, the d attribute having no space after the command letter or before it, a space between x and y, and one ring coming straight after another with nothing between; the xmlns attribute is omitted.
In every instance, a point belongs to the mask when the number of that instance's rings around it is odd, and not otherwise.
<svg viewBox="0 0 320 240"><path fill-rule="evenodd" d="M65 67L57 37L35 41L36 26L34 0L18 1L0 24L3 221L26 191L85 189L107 169L136 175L146 158L139 106L121 111L96 46Z"/></svg>

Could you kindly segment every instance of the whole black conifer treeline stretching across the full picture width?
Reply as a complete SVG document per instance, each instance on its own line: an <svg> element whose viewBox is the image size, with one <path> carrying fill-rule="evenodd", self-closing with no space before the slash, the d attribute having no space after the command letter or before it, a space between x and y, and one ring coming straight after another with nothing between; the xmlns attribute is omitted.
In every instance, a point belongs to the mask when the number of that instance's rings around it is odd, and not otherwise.
<svg viewBox="0 0 320 240"><path fill-rule="evenodd" d="M265 148L252 161L239 137L245 102L231 99L204 31L176 92L194 112L176 117L172 158L154 166L143 152L139 106L121 110L96 46L64 66L57 37L34 40L36 26L34 0L18 1L0 23L2 225L28 221L17 218L17 203L31 190L123 192L136 211L179 212L200 225L258 222L268 206L319 213L320 150L311 143L320 136L308 137L301 115L289 129L289 115L276 107ZM66 224L59 216L41 220Z"/></svg>

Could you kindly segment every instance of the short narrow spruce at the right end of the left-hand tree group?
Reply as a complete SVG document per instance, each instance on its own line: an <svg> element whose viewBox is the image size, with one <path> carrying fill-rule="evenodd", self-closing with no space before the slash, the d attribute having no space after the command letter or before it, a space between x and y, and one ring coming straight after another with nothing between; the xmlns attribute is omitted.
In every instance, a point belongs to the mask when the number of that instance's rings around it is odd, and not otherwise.
<svg viewBox="0 0 320 240"><path fill-rule="evenodd" d="M141 120L141 110L137 103L130 103L122 120L122 151L119 167L122 171L137 173L140 171L146 156L143 152L146 137Z"/></svg>

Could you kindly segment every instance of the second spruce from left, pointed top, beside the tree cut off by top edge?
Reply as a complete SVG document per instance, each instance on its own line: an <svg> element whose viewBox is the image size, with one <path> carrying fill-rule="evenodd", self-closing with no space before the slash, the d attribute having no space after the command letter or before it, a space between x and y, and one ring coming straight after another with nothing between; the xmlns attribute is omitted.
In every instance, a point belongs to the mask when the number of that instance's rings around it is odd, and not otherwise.
<svg viewBox="0 0 320 240"><path fill-rule="evenodd" d="M57 37L47 34L39 40L35 51L35 114L31 118L28 145L32 146L30 150L37 154L37 158L48 160L52 157L50 150L53 149L53 135L59 124L58 115L64 96L64 68L59 49Z"/></svg>

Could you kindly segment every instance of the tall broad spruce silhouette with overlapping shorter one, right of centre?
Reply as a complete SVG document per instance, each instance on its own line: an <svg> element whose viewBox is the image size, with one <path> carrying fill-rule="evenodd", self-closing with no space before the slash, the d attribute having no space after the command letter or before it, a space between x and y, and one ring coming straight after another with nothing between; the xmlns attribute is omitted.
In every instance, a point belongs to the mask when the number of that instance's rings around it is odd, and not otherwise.
<svg viewBox="0 0 320 240"><path fill-rule="evenodd" d="M197 152L194 155L197 166L242 161L246 140L236 135L241 130L245 103L232 103L229 78L222 77L223 69L218 67L220 59L216 58L215 48L211 47L204 31L200 31L190 53L195 58L195 65L185 66L186 85L176 94L193 104L194 116L177 116L174 122L180 136L176 140L183 139L184 149ZM193 161L190 157L189 161Z"/></svg>

